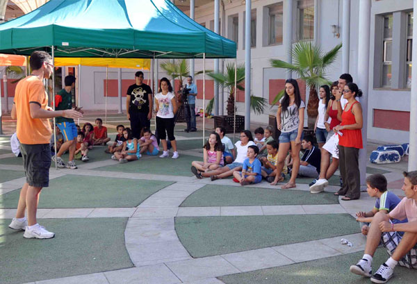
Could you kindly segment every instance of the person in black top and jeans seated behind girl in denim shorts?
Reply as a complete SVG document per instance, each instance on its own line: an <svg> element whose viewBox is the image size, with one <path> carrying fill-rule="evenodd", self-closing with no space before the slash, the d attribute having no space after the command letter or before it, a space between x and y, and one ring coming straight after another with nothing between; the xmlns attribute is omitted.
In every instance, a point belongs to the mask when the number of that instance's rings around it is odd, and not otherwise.
<svg viewBox="0 0 417 284"><path fill-rule="evenodd" d="M306 150L301 158L298 176L317 178L320 173L321 152L313 146L313 137L306 135L301 141L302 149Z"/></svg>

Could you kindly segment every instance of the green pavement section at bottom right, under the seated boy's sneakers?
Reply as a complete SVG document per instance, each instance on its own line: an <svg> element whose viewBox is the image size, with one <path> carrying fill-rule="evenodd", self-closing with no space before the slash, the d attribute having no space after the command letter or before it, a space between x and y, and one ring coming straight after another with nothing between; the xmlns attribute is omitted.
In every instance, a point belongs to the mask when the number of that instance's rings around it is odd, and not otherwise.
<svg viewBox="0 0 417 284"><path fill-rule="evenodd" d="M368 284L371 283L369 278L349 272L350 265L356 264L362 256L363 252L350 253L218 278L226 284ZM382 265L388 258L389 255L385 249L377 249L373 258L373 272L376 272L379 265ZM389 284L416 283L416 276L415 269L407 269L397 265Z"/></svg>

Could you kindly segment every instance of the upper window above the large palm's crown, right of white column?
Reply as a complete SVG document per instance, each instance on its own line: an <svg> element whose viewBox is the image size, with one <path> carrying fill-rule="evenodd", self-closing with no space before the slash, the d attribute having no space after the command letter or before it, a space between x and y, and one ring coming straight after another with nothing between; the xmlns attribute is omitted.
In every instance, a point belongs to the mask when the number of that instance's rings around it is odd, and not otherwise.
<svg viewBox="0 0 417 284"><path fill-rule="evenodd" d="M314 38L314 0L297 1L297 40Z"/></svg>

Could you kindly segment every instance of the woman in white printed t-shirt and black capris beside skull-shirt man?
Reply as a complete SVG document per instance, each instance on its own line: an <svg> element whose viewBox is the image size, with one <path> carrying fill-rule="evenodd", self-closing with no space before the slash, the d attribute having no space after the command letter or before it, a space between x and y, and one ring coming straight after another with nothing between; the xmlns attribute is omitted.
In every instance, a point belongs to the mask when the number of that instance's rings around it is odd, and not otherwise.
<svg viewBox="0 0 417 284"><path fill-rule="evenodd" d="M159 158L165 158L169 156L168 146L166 137L171 142L172 149L174 149L173 159L179 157L177 152L177 141L174 137L174 126L175 119L174 116L177 113L177 99L172 93L172 86L170 81L163 77L159 81L159 92L155 95L155 105L156 105L156 132L158 133L159 139L161 139L163 153Z"/></svg>

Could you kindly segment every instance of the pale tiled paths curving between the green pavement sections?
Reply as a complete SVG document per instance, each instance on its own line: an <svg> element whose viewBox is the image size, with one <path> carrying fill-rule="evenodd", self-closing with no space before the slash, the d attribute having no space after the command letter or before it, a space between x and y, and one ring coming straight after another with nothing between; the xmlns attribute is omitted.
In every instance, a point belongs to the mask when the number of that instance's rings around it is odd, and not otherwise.
<svg viewBox="0 0 417 284"><path fill-rule="evenodd" d="M181 139L181 137L180 137ZM7 149L2 146L1 149ZM201 155L195 151L195 155ZM187 151L188 155L190 151ZM6 158L6 156L0 156ZM70 283L188 283L220 284L218 276L250 272L257 269L291 265L307 260L316 260L345 253L362 251L365 238L361 234L344 235L328 239L286 244L279 247L268 247L220 256L192 258L183 247L174 228L174 217L190 216L247 216L247 215L308 215L327 213L349 213L354 215L358 210L369 210L374 199L362 194L358 201L341 201L331 205L303 206L213 206L213 207L179 207L181 203L196 190L207 183L213 185L233 185L231 180L211 182L209 179L197 180L189 176L163 176L152 174L130 174L120 172L97 171L95 168L112 165L113 160L90 162L80 165L79 170L51 169L51 178L67 174L86 176L117 176L118 178L149 179L174 181L175 183L156 192L136 208L54 208L38 210L39 218L100 218L129 217L126 225L125 244L134 268L120 269L95 274L85 274L47 281L36 284L70 284ZM0 169L22 170L21 166L0 165ZM402 174L400 171L385 175L390 185L399 187ZM0 194L17 190L24 183L24 178L0 183ZM276 188L261 183L257 187ZM308 185L299 185L296 190L308 190ZM329 187L335 191L336 187ZM400 190L394 190L402 195ZM15 209L0 209L0 219L14 217ZM344 237L354 245L341 245Z"/></svg>

